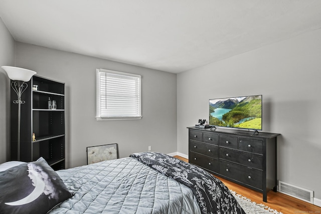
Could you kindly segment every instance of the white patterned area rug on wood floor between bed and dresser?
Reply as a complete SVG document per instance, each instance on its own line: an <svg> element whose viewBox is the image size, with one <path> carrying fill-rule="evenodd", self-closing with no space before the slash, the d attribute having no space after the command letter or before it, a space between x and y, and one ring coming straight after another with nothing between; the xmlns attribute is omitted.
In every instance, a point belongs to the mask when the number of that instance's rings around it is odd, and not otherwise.
<svg viewBox="0 0 321 214"><path fill-rule="evenodd" d="M243 195L237 194L235 191L230 190L231 193L236 198L237 202L242 206L246 214L259 214L259 213L276 213L276 214L283 214L282 212L278 212L275 209L271 209L270 207L264 204L258 204Z"/></svg>

